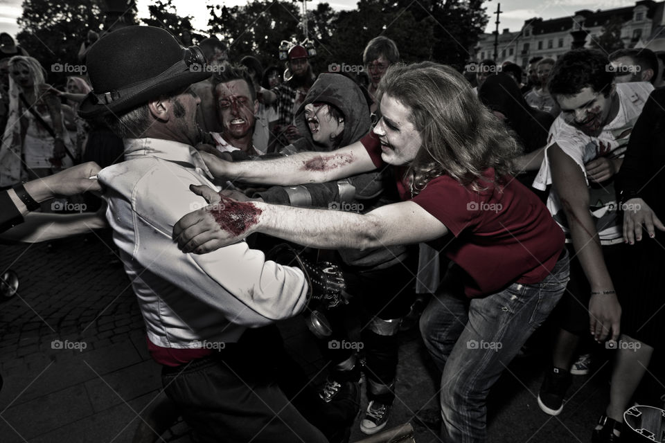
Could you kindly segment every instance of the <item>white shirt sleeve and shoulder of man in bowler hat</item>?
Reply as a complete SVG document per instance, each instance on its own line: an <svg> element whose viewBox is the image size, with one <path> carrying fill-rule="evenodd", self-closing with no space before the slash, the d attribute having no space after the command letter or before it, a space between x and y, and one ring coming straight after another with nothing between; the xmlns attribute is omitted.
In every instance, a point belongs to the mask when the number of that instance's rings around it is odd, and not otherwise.
<svg viewBox="0 0 665 443"><path fill-rule="evenodd" d="M144 160L125 163L135 165L139 161ZM182 253L172 240L175 222L206 206L202 197L190 192L189 185L213 185L174 163L158 160L154 165L155 159L145 161L153 166L144 168L141 177L130 168L117 168L123 163L99 175L106 186L131 196L130 214L112 211L114 217L120 217L111 223L121 225L113 226L114 230L134 231L134 244L121 246L124 251L133 251L132 258L151 273L221 311L238 325L258 327L303 309L308 284L302 271L266 261L263 252L250 249L245 242L202 255ZM130 241L131 237L127 233Z"/></svg>

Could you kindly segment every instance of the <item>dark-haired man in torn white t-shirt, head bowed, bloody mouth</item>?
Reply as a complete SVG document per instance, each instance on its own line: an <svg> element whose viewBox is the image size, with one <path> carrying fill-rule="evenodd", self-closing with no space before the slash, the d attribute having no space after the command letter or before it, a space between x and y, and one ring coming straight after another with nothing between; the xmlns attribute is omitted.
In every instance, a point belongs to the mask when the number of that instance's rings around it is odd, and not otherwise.
<svg viewBox="0 0 665 443"><path fill-rule="evenodd" d="M621 306L614 284L623 275L623 238L614 174L653 86L616 84L606 55L580 49L557 60L549 91L561 114L549 130L533 186L545 190L552 185L547 206L574 257L567 291L557 307L560 330L552 367L538 396L544 413L558 415L580 336L589 329L596 341L619 336Z"/></svg>

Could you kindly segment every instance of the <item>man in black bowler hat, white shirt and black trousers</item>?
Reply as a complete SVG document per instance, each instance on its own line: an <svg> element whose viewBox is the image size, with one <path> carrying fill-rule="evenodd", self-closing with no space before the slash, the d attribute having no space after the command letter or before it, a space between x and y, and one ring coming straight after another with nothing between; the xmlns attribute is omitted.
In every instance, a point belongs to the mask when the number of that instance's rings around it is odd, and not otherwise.
<svg viewBox="0 0 665 443"><path fill-rule="evenodd" d="M199 98L190 84L209 76L205 63L199 48L150 26L110 33L87 54L94 91L80 114L107 119L125 144L126 161L98 179L148 350L199 441L327 442L276 383L281 346L265 334L312 296L303 272L245 242L195 255L171 240L175 221L206 206L189 186L213 186L193 148Z"/></svg>

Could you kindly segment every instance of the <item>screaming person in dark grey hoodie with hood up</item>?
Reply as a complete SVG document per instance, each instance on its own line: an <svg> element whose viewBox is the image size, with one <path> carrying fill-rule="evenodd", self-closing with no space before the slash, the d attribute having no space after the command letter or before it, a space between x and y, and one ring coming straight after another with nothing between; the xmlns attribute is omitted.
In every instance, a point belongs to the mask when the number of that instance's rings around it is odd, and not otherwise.
<svg viewBox="0 0 665 443"><path fill-rule="evenodd" d="M369 105L362 89L344 75L323 73L308 91L296 112L296 126L303 138L281 150L282 155L302 151L328 152L351 145L371 129ZM300 186L273 186L253 197L274 204L351 210L364 213L398 200L395 180L387 168L358 174L339 181ZM398 359L396 334L401 317L406 315L414 291L414 271L406 246L372 248L364 251L337 251L346 279L346 291L360 301L362 348L366 356L369 406L361 422L361 431L373 434L387 424L395 398L393 392ZM357 315L353 303L328 311L332 335L323 345L332 370L320 391L330 402L339 397L353 397L359 392L360 343L349 341L342 326L349 314ZM351 343L346 347L343 343ZM339 344L339 346L337 346Z"/></svg>

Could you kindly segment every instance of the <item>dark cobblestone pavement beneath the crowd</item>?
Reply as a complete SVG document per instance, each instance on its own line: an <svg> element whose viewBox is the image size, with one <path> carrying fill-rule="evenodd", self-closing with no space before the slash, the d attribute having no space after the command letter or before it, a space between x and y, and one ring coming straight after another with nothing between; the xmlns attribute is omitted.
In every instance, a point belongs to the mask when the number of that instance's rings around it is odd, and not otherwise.
<svg viewBox="0 0 665 443"><path fill-rule="evenodd" d="M0 270L19 275L17 296L0 303L0 442L131 442L139 414L159 395L143 320L116 262L109 233L46 244L0 245ZM281 325L310 370L317 356L301 323ZM389 427L411 421L416 442L436 441L438 374L418 332L400 338L397 399ZM575 377L559 417L538 409L542 360L517 360L490 396L492 442L588 442L608 395L609 365ZM363 399L366 406L366 399ZM351 441L364 435L355 424ZM177 424L167 442L190 442Z"/></svg>

